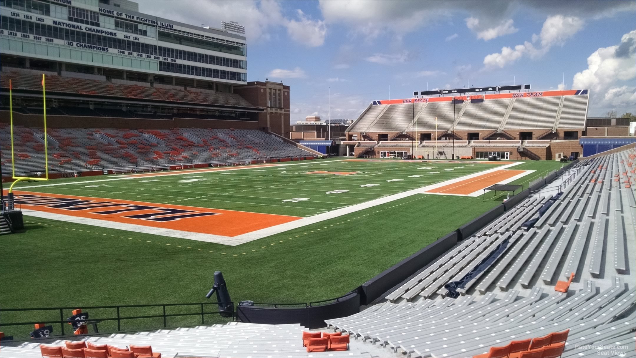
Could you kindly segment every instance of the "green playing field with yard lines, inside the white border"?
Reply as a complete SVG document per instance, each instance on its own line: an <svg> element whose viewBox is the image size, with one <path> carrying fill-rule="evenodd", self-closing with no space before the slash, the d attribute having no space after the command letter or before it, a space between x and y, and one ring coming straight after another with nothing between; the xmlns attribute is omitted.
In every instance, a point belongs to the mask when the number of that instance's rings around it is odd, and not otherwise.
<svg viewBox="0 0 636 358"><path fill-rule="evenodd" d="M86 177L65 185L41 182L17 185L15 189L39 186L25 190L307 217L498 166L492 162L308 161L218 172L190 170L179 175L117 181ZM357 174L307 174L320 171ZM303 200L284 202L294 198Z"/></svg>

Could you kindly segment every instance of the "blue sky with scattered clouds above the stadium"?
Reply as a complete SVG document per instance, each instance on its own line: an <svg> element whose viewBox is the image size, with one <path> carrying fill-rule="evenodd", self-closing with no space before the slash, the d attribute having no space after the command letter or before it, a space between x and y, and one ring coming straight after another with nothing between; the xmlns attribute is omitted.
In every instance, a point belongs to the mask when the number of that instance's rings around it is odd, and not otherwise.
<svg viewBox="0 0 636 358"><path fill-rule="evenodd" d="M247 74L291 86L291 121L355 119L415 90L530 83L636 113L636 1L141 0L189 24L246 28ZM188 6L183 6L188 4ZM330 89L329 89L330 87ZM331 106L328 106L328 92Z"/></svg>

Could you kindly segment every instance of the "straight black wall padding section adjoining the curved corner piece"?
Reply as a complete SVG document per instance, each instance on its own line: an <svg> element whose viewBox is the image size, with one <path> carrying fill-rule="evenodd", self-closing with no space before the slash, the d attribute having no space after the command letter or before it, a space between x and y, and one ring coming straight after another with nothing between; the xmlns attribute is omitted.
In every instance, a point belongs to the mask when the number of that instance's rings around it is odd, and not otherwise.
<svg viewBox="0 0 636 358"><path fill-rule="evenodd" d="M391 268L384 270L373 279L364 282L361 288L361 305L368 305L376 299L382 297L392 287L403 280L408 279L413 273L436 260L441 254L450 250L457 244L457 231L452 231L445 237L441 237L436 242L427 245L415 254L403 259Z"/></svg>

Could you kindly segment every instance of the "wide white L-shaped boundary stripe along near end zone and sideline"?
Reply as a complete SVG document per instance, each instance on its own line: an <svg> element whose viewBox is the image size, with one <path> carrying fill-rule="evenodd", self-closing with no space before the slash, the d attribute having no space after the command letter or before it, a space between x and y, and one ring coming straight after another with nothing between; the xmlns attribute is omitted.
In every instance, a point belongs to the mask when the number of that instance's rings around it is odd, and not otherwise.
<svg viewBox="0 0 636 358"><path fill-rule="evenodd" d="M389 202L392 202L394 200L399 200L399 199L402 199L402 198L406 198L406 197L411 196L411 195L415 195L415 194L432 194L432 193L424 193L424 191L427 191L427 190L430 190L430 189L434 189L434 188L439 188L439 186L445 186L445 185L448 185L448 184L452 184L454 182L464 181L464 180L470 179L472 177L481 176L483 174L488 174L490 172L494 172L495 170L506 169L506 168L513 167L513 166L519 165L519 164L522 164L522 162L514 162L514 163L510 163L508 165L504 165L502 167L497 166L495 168L488 169L488 170L483 170L481 172L476 172L476 173L473 173L473 174L469 174L467 176L457 177L455 179L450 179L448 181L439 182L437 184L431 184L431 185L428 185L428 186L423 186L422 188L416 188L416 189L411 189L411 190L408 190L408 191L403 191L402 193L397 193L397 194L393 194L393 195L389 195L389 196L384 196L382 198L377 198L377 199L371 200L369 202L364 202L364 203L359 203L359 204L356 204L356 205L351 205L349 207L344 207L342 209L336 209L336 210L332 210L332 211L329 211L329 212L324 212L322 214L317 214L315 216L303 217L302 219L298 219L296 221L291 221L289 223L284 223L284 224L279 224L279 225L275 225L275 226L270 226L269 228L252 231L250 233L244 233L242 235L237 235L235 237L225 237L225 236L221 236L221 235L194 233L194 232L191 232L191 231L181 231L181 230L155 228L153 226L143 226L143 225L137 225L137 224L116 223L114 221L106 221L106 220L100 220L100 219L86 219L84 217L69 216L69 215L64 215L64 214L53 214L51 212L38 211L38 210L22 209L22 211L25 212L25 214L27 214L29 216L42 217L42 218L45 218L45 219L53 219L53 220L59 220L59 221L69 221L71 223L79 223L79 224L100 226L100 227L103 227L103 228L114 228L114 229L119 229L119 230L127 230L127 231L136 231L136 232L142 232L142 233L149 233L149 234L153 234L153 235L162 235L162 236L177 237L177 238L187 238L187 239L190 239L190 240L197 240L197 241L204 241L204 242L214 242L216 244L237 246L237 245L240 245L240 244L245 244L246 242L251 242L251 241L254 241L254 240L258 240L259 238L268 237L268 236L271 236L271 235L275 235L277 233L282 233L284 231L289 231L289 230L293 230L293 229L296 229L296 228L301 228L302 226L306 226L306 225L309 225L309 224L319 223L321 221L325 221L325 220L328 220L328 219L333 219L333 218L338 217L338 216L351 214L352 212L356 212L356 211L359 211L359 210L369 209L371 207L375 207L377 205L382 205L382 204L385 204L385 203L389 203ZM247 167L244 167L242 169L247 169ZM527 171L530 172L530 170L527 170ZM525 175L526 175L525 173L523 175L520 174L520 176L525 176ZM124 178L122 178L122 179L124 179ZM138 178L135 178L135 179L138 179ZM214 209L211 209L211 210L214 210Z"/></svg>

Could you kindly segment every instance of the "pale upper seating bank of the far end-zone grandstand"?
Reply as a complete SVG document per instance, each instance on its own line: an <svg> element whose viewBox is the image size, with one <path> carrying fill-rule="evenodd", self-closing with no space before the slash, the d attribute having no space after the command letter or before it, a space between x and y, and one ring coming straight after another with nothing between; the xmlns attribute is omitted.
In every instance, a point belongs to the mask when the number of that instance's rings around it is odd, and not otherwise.
<svg viewBox="0 0 636 358"><path fill-rule="evenodd" d="M455 130L584 128L587 110L588 95L381 104L365 109L347 132L443 132L453 118Z"/></svg>

